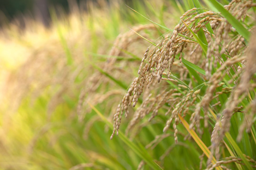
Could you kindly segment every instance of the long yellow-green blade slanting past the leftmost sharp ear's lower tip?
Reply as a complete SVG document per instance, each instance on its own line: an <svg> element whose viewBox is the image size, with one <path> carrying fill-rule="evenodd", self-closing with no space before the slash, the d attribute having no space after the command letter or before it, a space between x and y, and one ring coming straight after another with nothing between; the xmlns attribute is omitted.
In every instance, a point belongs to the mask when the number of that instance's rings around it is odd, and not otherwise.
<svg viewBox="0 0 256 170"><path fill-rule="evenodd" d="M110 129L113 129L113 125L110 123L108 119L106 119L99 110L97 110L93 105L91 105L90 102L88 102L91 109L94 110L97 115L110 127ZM122 132L119 132L120 139L129 146L130 149L133 150L141 159L143 159L153 170L162 170L159 165L155 163L153 158L146 152L146 150L141 150L136 144L131 142Z"/></svg>

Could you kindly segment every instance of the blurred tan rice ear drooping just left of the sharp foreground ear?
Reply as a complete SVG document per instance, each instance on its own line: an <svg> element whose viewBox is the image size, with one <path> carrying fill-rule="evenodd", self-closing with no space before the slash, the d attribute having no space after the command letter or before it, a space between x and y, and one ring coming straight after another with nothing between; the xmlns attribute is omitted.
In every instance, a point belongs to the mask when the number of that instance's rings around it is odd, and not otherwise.
<svg viewBox="0 0 256 170"><path fill-rule="evenodd" d="M77 114L80 120L82 120L85 117L85 113L91 112L91 107L87 107L87 104L86 104L87 101L90 101L92 105L96 105L102 101L102 100L98 100L99 96L108 96L108 94L104 94L104 93L98 94L97 92L97 89L102 84L105 85L111 82L110 78L106 75L112 76L112 78L114 78L114 76L116 75L119 77L123 76L121 72L114 74L116 69L119 69L115 66L115 64L118 62L117 61L118 57L119 56L127 57L126 51L129 51L130 46L133 46L134 44L140 42L143 39L142 37L135 34L135 32L139 34L144 34L147 37L148 34L145 33L146 31L150 33L154 33L157 31L157 29L153 24L139 25L139 26L132 27L130 31L124 34L118 35L109 52L109 58L107 59L106 62L101 63L101 66L98 69L100 71L96 71L84 83L84 87L81 90L79 102L77 105ZM140 45L140 46L144 47L143 45ZM137 48L139 48L139 46L137 46ZM126 62L126 64L128 65L129 63ZM132 62L130 62L130 64L132 65ZM102 72L105 75L102 74ZM126 89L126 87L122 87L122 88ZM114 91L115 90L113 90L113 92ZM113 95L119 95L119 93L113 93Z"/></svg>

